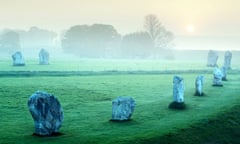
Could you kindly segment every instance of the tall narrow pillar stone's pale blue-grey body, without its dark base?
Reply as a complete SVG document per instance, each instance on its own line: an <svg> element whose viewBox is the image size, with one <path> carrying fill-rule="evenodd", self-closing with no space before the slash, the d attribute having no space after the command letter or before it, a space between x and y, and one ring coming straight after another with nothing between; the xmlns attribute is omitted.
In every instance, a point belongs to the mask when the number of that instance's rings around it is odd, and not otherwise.
<svg viewBox="0 0 240 144"><path fill-rule="evenodd" d="M184 102L184 80L180 76L174 76L173 78L173 101Z"/></svg>

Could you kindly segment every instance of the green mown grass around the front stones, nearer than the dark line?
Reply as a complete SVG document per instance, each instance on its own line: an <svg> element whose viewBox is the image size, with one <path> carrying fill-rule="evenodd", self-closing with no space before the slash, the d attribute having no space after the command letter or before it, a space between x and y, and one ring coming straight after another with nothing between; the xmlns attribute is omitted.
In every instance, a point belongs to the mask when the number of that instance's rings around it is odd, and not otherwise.
<svg viewBox="0 0 240 144"><path fill-rule="evenodd" d="M180 75L186 88L184 111L168 109L173 74L1 77L0 143L141 143L208 121L239 103L238 74L228 75L222 88L211 86L212 74L203 74L204 97L193 96L197 73ZM62 136L32 135L27 100L37 90L52 93L61 102ZM135 99L131 121L109 122L111 100L117 96Z"/></svg>

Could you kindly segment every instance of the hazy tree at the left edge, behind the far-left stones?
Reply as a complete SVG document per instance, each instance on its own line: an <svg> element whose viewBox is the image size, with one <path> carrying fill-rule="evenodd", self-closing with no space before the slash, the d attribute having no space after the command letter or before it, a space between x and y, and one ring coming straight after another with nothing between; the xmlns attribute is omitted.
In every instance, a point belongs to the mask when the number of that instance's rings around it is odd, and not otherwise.
<svg viewBox="0 0 240 144"><path fill-rule="evenodd" d="M12 30L6 30L0 37L0 49L12 54L20 49L19 34Z"/></svg>

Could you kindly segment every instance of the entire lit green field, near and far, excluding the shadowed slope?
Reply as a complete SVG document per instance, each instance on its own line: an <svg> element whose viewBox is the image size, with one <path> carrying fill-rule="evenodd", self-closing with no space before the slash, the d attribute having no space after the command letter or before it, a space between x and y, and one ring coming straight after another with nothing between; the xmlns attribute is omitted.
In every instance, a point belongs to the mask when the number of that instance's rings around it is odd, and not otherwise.
<svg viewBox="0 0 240 144"><path fill-rule="evenodd" d="M28 60L25 67L13 67L9 60L0 61L0 143L155 143L169 133L229 111L240 100L238 63L232 64L229 81L222 88L211 86L212 68L197 61L79 59L50 63L41 66ZM199 74L205 76L204 97L193 96ZM184 111L168 109L174 75L185 80ZM37 90L54 94L62 104L63 135L32 135L27 100ZM135 99L131 121L109 122L111 101L117 96Z"/></svg>

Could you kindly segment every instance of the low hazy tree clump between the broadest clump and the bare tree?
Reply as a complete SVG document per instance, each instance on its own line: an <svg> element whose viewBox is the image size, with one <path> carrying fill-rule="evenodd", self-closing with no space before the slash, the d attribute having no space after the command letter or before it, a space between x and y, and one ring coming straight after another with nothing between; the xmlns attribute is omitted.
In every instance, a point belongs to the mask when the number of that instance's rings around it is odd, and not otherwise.
<svg viewBox="0 0 240 144"><path fill-rule="evenodd" d="M147 32L127 34L121 44L122 55L127 58L150 57L153 47L152 39Z"/></svg>

